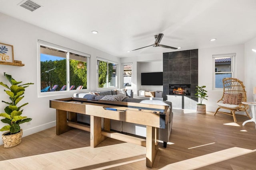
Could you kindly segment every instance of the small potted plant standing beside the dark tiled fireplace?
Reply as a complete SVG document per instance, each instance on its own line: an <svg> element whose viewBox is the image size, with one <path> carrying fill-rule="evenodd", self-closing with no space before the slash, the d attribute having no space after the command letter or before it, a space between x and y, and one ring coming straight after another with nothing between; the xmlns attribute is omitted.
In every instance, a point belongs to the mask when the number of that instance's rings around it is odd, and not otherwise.
<svg viewBox="0 0 256 170"><path fill-rule="evenodd" d="M207 100L206 96L206 90L204 90L204 88L206 88L206 86L196 86L196 98L200 98L200 103L198 103L196 105L196 112L197 113L201 113L201 114L206 114L206 105L202 104L203 100Z"/></svg>

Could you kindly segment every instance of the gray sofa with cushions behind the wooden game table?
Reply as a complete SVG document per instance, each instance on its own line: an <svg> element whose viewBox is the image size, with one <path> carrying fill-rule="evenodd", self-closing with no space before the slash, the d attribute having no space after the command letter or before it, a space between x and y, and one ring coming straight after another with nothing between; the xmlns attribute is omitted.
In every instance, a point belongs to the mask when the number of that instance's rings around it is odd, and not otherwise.
<svg viewBox="0 0 256 170"><path fill-rule="evenodd" d="M111 91L112 90L108 90L108 91L104 91L104 92L96 92L99 95L96 95L96 94L94 95L94 93L91 93L91 94L76 93L76 94L74 94L74 97L87 98L88 100L100 100L104 96L110 95L110 93L115 95ZM136 98L131 98L131 97L124 98L124 100L122 100L122 102L135 102L135 103L142 103L142 104L155 104L155 105L169 106L170 115L169 115L169 120L166 125L166 128L165 129L159 128L159 140L163 141L164 147L166 148L167 142L169 141L170 133L172 131L172 118L173 118L172 103L167 102L167 101L160 101L160 100L142 100L142 99L136 99ZM90 116L79 114L78 121L90 124ZM114 131L119 131L122 133L130 133L133 135L146 137L146 126L144 126L144 125L123 122L123 121L117 121L117 120L110 120L110 129L112 129Z"/></svg>

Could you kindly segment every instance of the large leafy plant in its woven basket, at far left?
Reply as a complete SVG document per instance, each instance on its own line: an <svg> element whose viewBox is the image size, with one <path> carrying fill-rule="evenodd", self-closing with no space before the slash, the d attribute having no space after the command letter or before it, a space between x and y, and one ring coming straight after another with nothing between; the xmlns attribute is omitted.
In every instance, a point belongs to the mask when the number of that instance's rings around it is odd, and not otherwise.
<svg viewBox="0 0 256 170"><path fill-rule="evenodd" d="M3 123L7 123L8 125L5 125L0 129L0 131L8 131L2 135L3 143L5 148L14 147L16 145L19 145L21 142L22 137L22 129L20 129L20 124L29 122L32 119L27 118L26 116L22 116L21 107L26 106L28 103L22 104L21 106L16 106L20 100L24 98L24 91L25 88L27 88L30 84L34 83L26 83L18 85L22 82L17 82L12 78L11 75L5 74L4 76L7 78L7 80L10 82L11 86L4 84L3 82L0 82L2 86L7 88L8 90L4 90L6 94L9 96L10 102L4 102L8 106L4 108L5 113L0 113L1 117L4 117L4 119L1 119Z"/></svg>

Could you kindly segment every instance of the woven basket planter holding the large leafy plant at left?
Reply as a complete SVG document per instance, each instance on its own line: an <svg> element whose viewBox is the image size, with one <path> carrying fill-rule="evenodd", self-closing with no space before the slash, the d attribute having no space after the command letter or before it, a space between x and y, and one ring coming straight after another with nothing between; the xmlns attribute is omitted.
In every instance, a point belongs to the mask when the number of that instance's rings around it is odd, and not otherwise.
<svg viewBox="0 0 256 170"><path fill-rule="evenodd" d="M10 132L6 132L2 135L4 148L15 147L21 143L22 129L20 129L19 133L15 133L13 135L5 135L7 133L10 133Z"/></svg>

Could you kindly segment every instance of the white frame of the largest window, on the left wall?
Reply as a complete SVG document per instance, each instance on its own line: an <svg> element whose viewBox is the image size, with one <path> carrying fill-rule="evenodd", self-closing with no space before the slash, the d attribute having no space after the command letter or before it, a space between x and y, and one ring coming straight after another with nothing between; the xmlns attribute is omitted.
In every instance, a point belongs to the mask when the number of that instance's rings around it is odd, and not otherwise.
<svg viewBox="0 0 256 170"><path fill-rule="evenodd" d="M67 52L67 54L66 54L66 86L67 86L66 90L54 91L54 92L41 92L41 90L40 90L41 89L41 63L40 63L41 62L40 61L41 49L40 49L40 47L41 46L49 47L49 48L52 48L52 49L57 49L57 50ZM89 63L89 61L90 61L91 55L38 39L38 42L37 42L37 75L38 75L37 76L37 82L38 82L37 93L38 93L38 97L72 94L74 92L78 92L78 90L69 90L69 87L70 87L70 65L69 65L69 63L70 63L70 53L74 53L74 54L82 55L82 56L86 57L86 63L87 63L86 64L86 68L87 68L87 82L86 82L86 84L87 84L87 88L79 90L79 92L81 92L81 91L82 92L90 91L90 87L89 87L89 84L90 84L89 83L89 81L90 81L89 65L90 65L90 63Z"/></svg>

